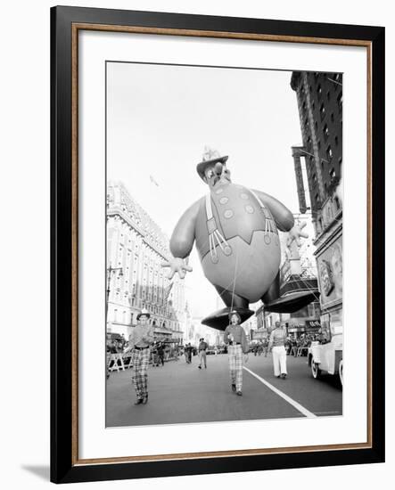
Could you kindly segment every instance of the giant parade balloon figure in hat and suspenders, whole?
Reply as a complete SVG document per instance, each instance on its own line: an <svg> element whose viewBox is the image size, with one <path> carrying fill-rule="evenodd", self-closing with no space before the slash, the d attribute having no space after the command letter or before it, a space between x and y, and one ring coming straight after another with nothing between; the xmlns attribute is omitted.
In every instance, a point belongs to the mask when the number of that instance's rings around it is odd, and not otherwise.
<svg viewBox="0 0 395 490"><path fill-rule="evenodd" d="M227 158L206 148L196 169L209 193L180 217L170 239L173 257L162 264L170 269L169 279L175 273L183 279L192 271L185 259L196 243L203 272L226 305L202 323L222 331L231 310L238 311L243 323L253 314L249 304L259 299L266 311L291 313L317 298L313 291L280 296L278 230L289 233L289 244L295 240L300 245L300 237L308 235L301 231L303 225L294 225L292 212L279 200L233 184Z"/></svg>

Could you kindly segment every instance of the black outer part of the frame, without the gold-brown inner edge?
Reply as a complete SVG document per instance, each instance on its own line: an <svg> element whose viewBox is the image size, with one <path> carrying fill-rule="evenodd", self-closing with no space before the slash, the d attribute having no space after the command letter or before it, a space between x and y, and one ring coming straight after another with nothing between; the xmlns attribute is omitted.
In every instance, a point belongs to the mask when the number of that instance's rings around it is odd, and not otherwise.
<svg viewBox="0 0 395 490"><path fill-rule="evenodd" d="M368 41L372 46L372 445L331 451L75 465L72 461L71 24L193 29ZM154 478L384 461L384 28L132 12L51 9L51 481Z"/></svg>

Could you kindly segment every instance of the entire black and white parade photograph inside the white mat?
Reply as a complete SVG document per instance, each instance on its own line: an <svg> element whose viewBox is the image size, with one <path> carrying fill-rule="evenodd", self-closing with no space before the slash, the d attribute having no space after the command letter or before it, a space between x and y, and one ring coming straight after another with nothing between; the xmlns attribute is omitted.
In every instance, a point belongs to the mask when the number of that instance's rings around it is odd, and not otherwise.
<svg viewBox="0 0 395 490"><path fill-rule="evenodd" d="M105 77L106 427L342 417L342 73Z"/></svg>

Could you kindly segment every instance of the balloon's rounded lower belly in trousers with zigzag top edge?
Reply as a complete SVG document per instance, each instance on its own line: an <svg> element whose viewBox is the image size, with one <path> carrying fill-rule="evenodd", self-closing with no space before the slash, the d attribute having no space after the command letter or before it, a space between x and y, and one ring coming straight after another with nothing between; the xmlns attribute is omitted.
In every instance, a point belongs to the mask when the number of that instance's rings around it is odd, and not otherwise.
<svg viewBox="0 0 395 490"><path fill-rule="evenodd" d="M202 258L204 275L215 286L246 298L253 303L266 293L275 280L281 260L280 245L274 234L265 241L265 233L256 231L251 244L240 237L227 240L232 254L218 251L218 263L213 263L210 253ZM235 290L234 290L235 288Z"/></svg>

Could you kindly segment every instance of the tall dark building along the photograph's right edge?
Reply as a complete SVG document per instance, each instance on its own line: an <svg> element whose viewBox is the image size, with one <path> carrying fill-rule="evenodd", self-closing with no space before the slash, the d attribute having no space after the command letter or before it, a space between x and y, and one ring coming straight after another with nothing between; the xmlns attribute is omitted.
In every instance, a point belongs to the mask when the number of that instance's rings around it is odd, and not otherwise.
<svg viewBox="0 0 395 490"><path fill-rule="evenodd" d="M305 160L315 229L321 324L342 328L342 74L295 71L291 78L300 114L303 144L292 147L300 212L306 192L300 158Z"/></svg>

